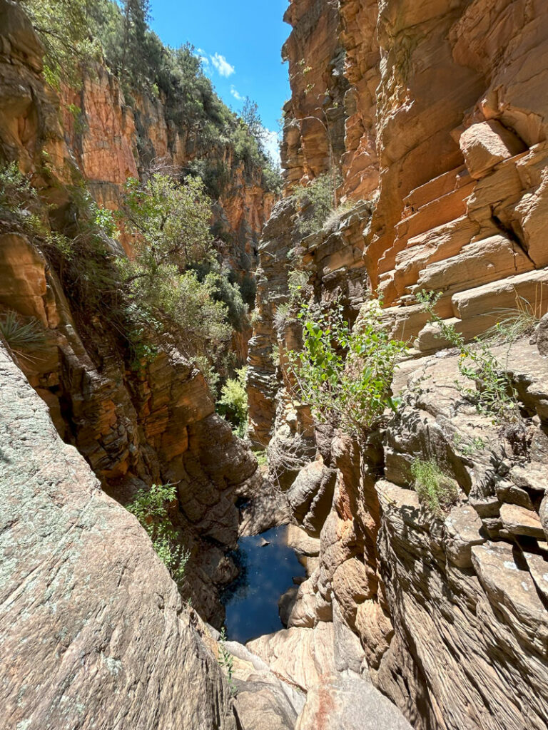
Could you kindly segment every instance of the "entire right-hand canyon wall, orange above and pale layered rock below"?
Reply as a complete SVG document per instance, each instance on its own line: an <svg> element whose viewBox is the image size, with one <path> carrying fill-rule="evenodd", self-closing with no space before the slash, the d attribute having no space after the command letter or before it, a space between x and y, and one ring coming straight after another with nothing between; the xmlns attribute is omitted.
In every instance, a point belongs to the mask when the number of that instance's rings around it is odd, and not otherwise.
<svg viewBox="0 0 548 730"><path fill-rule="evenodd" d="M314 111L298 73L304 58L327 91L313 115L343 109L343 150L332 139L339 196L353 204L303 238L289 196L259 247L251 435L270 442L294 518L319 541L288 625L342 618L373 682L416 728L540 730L548 721L546 351L528 339L495 351L523 419L493 426L454 385L457 356L430 355L447 343L416 291L441 292L438 314L465 339L503 310L548 309L548 9L520 0L338 8L309 0L292 2L286 18L286 193L330 169L321 125L300 117ZM346 81L326 72L335 68ZM306 296L324 309L338 299L351 322L378 294L387 328L410 340L415 359L394 384L403 407L366 443L315 425L297 400L284 353L298 349L300 325L294 311L276 316L295 266L308 277ZM443 517L412 488L417 457L435 458L458 485L459 502Z"/></svg>

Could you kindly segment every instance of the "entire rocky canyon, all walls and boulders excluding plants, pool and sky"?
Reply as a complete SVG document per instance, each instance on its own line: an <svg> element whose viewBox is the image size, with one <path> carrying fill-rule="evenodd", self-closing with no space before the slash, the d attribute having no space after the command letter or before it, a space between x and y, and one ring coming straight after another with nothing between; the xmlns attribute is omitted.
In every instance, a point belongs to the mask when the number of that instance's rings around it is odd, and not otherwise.
<svg viewBox="0 0 548 730"><path fill-rule="evenodd" d="M256 279L230 345L247 361L239 439L191 353L167 337L133 369L113 328L2 220L0 313L45 337L21 356L0 335L10 730L548 724L548 8L290 0L285 20L280 197L229 143L200 147L161 96L129 103L100 61L56 91L25 13L0 0L3 161L56 211L71 210L74 171L118 210L126 179L151 166L222 163L218 255ZM335 210L303 233L313 200L299 191L322 176ZM109 245L132 256L129 237ZM438 293L434 317L424 291ZM396 412L357 437L301 401L291 353L299 301L340 307L359 332L372 297L408 349ZM505 421L459 380L465 343L509 315L533 325L488 345L515 393ZM419 495L417 459L452 485L444 510ZM123 506L167 483L189 551L181 592ZM225 639L238 538L285 523L306 571L281 597L285 628Z"/></svg>

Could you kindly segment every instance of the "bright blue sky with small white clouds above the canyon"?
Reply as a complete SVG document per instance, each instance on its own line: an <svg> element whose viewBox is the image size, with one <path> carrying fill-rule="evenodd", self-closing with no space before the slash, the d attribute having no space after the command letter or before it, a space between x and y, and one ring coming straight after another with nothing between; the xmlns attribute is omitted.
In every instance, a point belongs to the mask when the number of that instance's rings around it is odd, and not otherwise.
<svg viewBox="0 0 548 730"><path fill-rule="evenodd" d="M151 27L171 46L187 41L200 50L217 93L235 111L246 96L259 104L265 127L278 131L289 99L281 47L288 0L151 0ZM272 143L272 139L271 139Z"/></svg>

